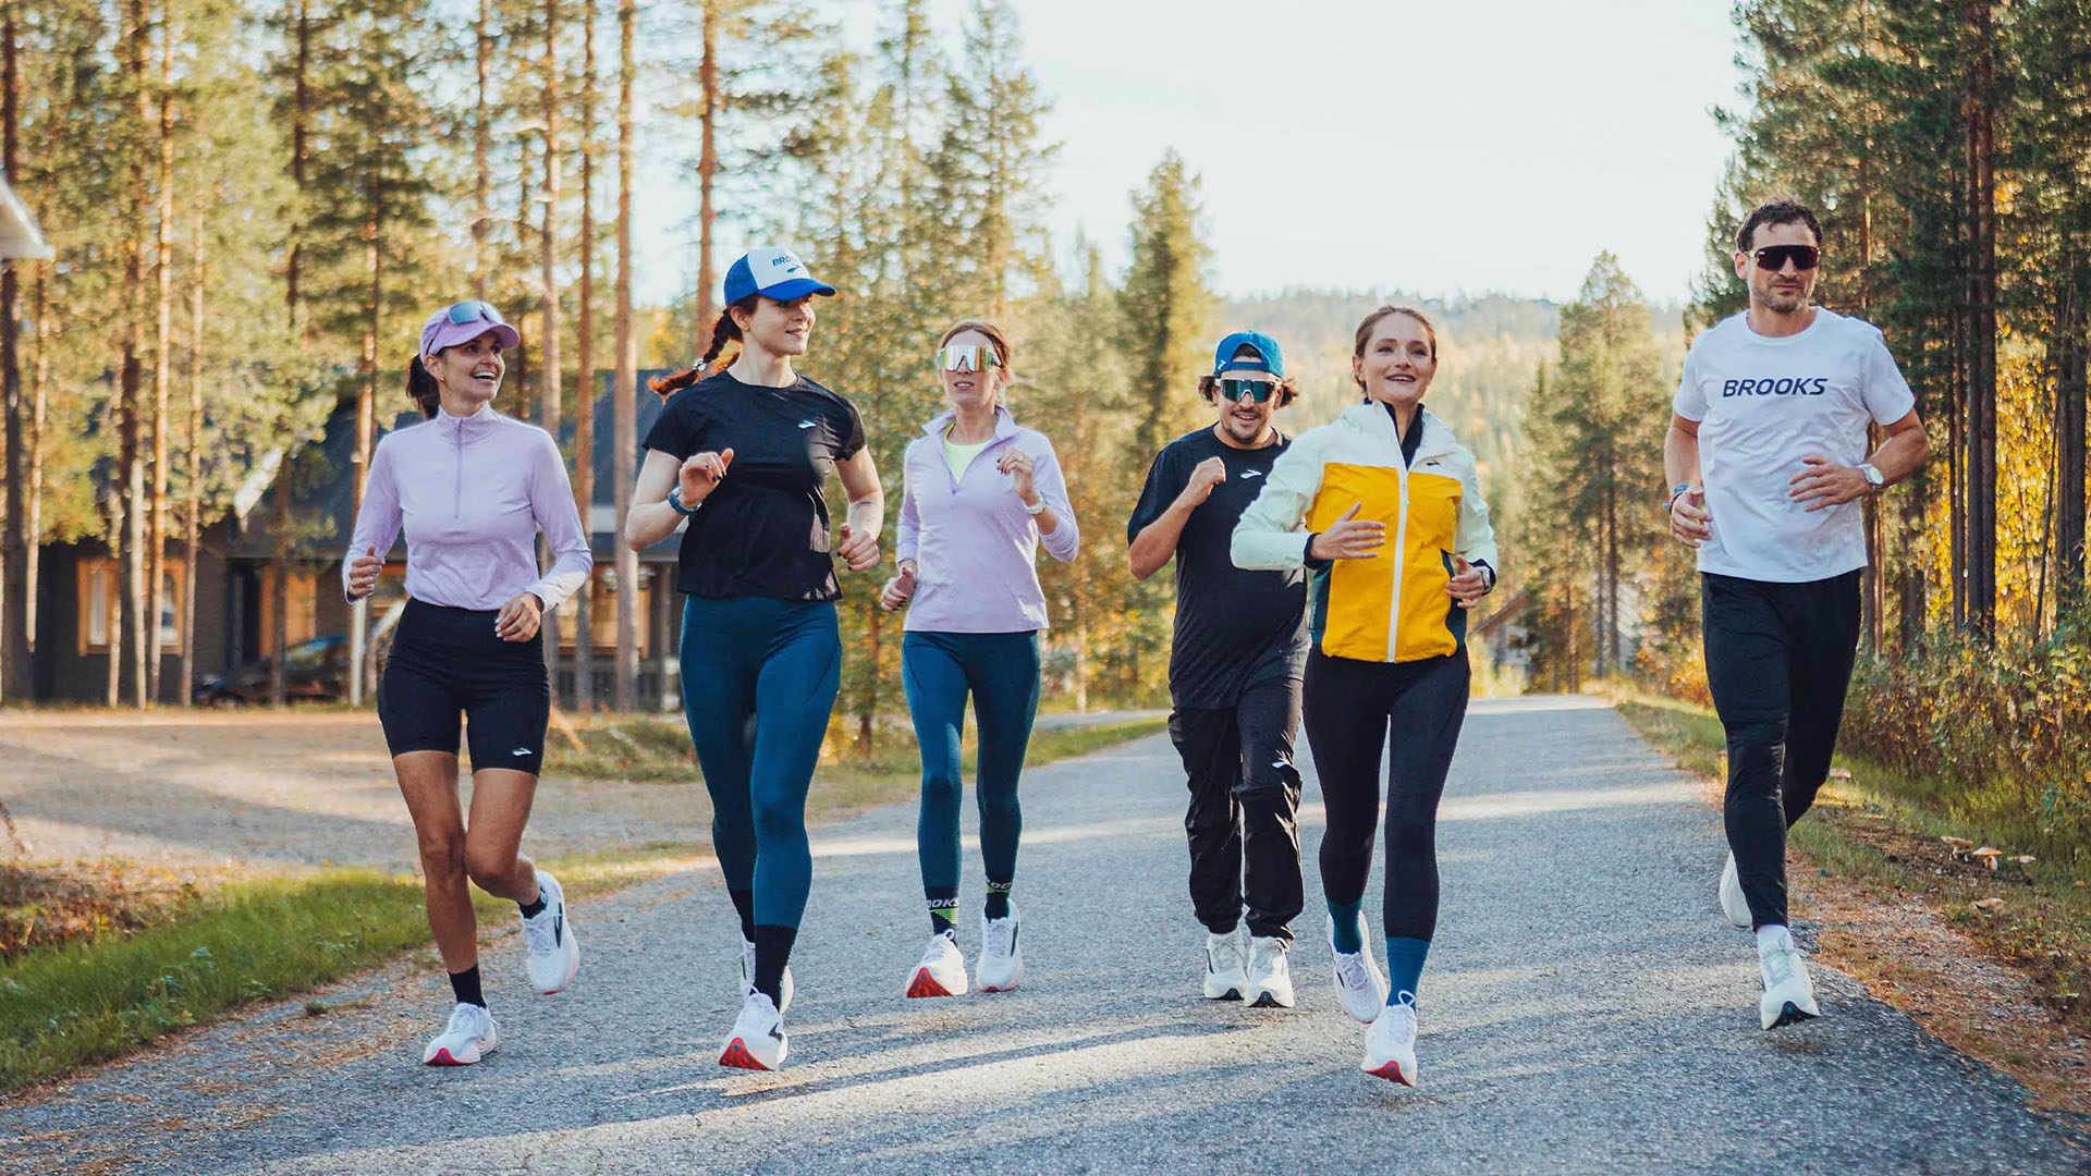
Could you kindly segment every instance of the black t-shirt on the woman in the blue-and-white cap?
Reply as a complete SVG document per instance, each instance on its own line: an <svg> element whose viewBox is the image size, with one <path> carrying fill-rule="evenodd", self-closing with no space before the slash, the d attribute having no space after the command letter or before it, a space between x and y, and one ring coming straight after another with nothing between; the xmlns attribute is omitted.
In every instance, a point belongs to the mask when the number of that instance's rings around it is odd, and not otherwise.
<svg viewBox="0 0 2091 1176"><path fill-rule="evenodd" d="M719 372L667 400L646 448L675 460L734 450L726 479L690 515L675 586L690 596L832 601L834 559L822 488L864 448L864 419L799 377L790 387Z"/></svg>

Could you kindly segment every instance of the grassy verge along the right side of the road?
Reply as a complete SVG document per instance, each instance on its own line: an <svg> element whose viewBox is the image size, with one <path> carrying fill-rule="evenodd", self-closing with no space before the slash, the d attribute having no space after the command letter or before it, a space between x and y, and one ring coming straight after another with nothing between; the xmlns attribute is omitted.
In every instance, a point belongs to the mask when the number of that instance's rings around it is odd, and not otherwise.
<svg viewBox="0 0 2091 1176"><path fill-rule="evenodd" d="M1706 707L1623 695L1621 716L1681 768L1717 781L1727 774L1721 722ZM2001 793L1999 793L2001 795ZM1997 847L1997 868L1949 845ZM1863 757L1838 755L1832 781L1809 816L1794 824L1788 850L1809 866L1800 898L1819 917L1821 944L1890 1002L1993 1065L2014 1071L2055 1105L2091 1109L2083 1076L2083 1034L2091 1030L2085 983L2091 979L2091 887L2074 860L2018 860L2022 845L2045 843L2037 816L1986 804L1980 793L1892 772ZM1963 940L1932 933L1936 912ZM1932 925L1936 927L1936 925ZM2047 1011L2007 1025L1968 973L1968 946L1980 960L2018 973L2030 1000Z"/></svg>

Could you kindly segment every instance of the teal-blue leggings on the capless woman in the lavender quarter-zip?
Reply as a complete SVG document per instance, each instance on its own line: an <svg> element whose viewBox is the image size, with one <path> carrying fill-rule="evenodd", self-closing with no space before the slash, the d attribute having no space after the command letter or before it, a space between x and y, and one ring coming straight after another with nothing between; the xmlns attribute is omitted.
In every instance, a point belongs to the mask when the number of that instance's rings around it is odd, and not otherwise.
<svg viewBox="0 0 2091 1176"><path fill-rule="evenodd" d="M1016 881L1016 839L1025 829L1016 776L1025 770L1031 720L1039 709L1039 634L910 632L901 638L901 680L916 743L922 745L922 818L916 843L922 889L958 896L958 804L964 797L958 737L966 693L981 724L974 799L981 804L981 864L987 881Z"/></svg>

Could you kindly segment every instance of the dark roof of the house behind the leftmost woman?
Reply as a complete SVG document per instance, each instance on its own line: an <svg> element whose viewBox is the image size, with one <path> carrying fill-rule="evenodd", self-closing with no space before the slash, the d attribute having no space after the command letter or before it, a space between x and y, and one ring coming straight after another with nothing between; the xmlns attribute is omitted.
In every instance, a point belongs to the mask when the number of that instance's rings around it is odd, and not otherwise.
<svg viewBox="0 0 2091 1176"><path fill-rule="evenodd" d="M638 379L638 431L640 442L646 439L646 431L661 416L661 398L646 387L646 377L665 375L663 370L642 370ZM592 511L594 515L608 515L617 504L617 454L615 454L615 406L611 402L611 385L615 383L615 372L596 372L596 395L594 395L594 462L596 462L596 485L594 502L602 511ZM391 433L393 429L404 429L408 425L420 423L420 412L406 410L391 421L378 421L378 437ZM573 439L579 433L579 421L567 416L560 421L558 446L569 456L573 454ZM374 444L374 442L372 442ZM644 454L640 454L644 460ZM289 473L289 479L286 479ZM349 536L355 532L355 402L343 402L335 408L335 414L326 419L326 429L320 439L307 444L299 450L297 458L286 462L284 471L276 473L276 481L261 494L255 506L247 513L245 525L238 527L238 536L228 552L232 559L274 559L276 538L276 494L282 492L284 483L299 485L299 496L295 504L299 548L314 557L332 559L337 552L345 550ZM583 521L585 523L585 521ZM617 536L608 527L590 527L590 548L598 561L611 561L617 555ZM677 536L669 536L650 548L640 552L646 563L673 563L677 550ZM393 559L406 557L406 540L393 544Z"/></svg>

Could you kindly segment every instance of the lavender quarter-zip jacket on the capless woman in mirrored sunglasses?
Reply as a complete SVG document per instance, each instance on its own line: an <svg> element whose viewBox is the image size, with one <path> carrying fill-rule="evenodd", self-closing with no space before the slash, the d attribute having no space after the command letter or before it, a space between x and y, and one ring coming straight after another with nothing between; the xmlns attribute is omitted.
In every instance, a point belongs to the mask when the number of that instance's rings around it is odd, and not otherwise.
<svg viewBox="0 0 2091 1176"><path fill-rule="evenodd" d="M901 532L895 561L916 563L916 594L907 603L907 630L918 632L1035 632L1046 628L1046 590L1039 588L1037 548L1069 563L1081 550L1075 508L1066 500L1060 458L1037 429L1025 429L1008 408L995 408L995 435L953 479L943 460L943 431L956 421L945 412L922 427L901 458ZM1039 536L1010 475L995 469L1008 446L1031 454L1031 485L1058 515L1054 534Z"/></svg>

